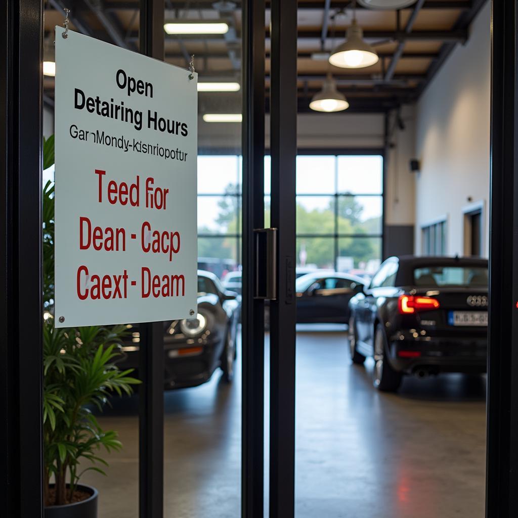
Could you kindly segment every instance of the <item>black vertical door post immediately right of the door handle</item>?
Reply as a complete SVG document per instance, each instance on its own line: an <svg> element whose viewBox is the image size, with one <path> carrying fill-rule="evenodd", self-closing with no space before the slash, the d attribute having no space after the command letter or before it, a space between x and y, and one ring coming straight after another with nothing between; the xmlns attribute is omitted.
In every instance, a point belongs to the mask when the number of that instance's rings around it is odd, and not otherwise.
<svg viewBox="0 0 518 518"><path fill-rule="evenodd" d="M278 298L270 303L270 517L295 508L295 160L297 1L271 1L271 226Z"/></svg>

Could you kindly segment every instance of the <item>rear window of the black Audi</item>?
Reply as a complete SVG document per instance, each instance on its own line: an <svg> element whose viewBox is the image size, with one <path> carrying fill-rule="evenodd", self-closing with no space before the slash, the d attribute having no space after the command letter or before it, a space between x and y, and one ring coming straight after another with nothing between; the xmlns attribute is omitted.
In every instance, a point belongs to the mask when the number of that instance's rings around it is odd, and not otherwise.
<svg viewBox="0 0 518 518"><path fill-rule="evenodd" d="M426 287L483 287L487 288L486 267L426 266L414 269L414 284Z"/></svg>

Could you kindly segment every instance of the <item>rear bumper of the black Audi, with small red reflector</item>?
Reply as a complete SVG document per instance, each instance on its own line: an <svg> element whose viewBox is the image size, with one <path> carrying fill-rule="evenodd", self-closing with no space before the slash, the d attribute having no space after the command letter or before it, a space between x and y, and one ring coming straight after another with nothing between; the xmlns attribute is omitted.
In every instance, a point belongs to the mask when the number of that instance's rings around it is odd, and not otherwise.
<svg viewBox="0 0 518 518"><path fill-rule="evenodd" d="M487 369L485 333L466 337L414 337L401 332L389 343L389 361L399 372L482 373Z"/></svg>

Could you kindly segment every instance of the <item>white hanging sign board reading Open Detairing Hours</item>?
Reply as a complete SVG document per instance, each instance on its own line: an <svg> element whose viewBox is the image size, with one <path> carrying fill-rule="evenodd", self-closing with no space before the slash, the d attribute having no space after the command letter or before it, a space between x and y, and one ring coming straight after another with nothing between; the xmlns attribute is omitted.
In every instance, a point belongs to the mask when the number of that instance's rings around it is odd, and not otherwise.
<svg viewBox="0 0 518 518"><path fill-rule="evenodd" d="M56 27L56 327L189 318L197 77Z"/></svg>

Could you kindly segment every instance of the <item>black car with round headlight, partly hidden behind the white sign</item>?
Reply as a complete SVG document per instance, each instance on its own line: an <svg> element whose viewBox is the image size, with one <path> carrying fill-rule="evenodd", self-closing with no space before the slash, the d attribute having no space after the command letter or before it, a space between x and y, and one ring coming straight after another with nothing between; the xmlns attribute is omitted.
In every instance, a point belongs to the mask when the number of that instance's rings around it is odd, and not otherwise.
<svg viewBox="0 0 518 518"><path fill-rule="evenodd" d="M232 381L236 359L236 335L240 297L226 291L219 279L198 270L198 313L195 318L164 322L165 388L201 385L218 367ZM136 369L140 333L128 324L130 337L122 347L120 368Z"/></svg>

